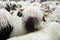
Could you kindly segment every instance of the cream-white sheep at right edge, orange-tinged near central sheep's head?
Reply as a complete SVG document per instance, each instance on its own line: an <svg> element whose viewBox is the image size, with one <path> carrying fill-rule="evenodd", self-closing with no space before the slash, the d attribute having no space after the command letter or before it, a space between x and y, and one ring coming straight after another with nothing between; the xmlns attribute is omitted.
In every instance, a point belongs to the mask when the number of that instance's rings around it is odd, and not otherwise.
<svg viewBox="0 0 60 40"><path fill-rule="evenodd" d="M45 14L46 16L44 16L44 19L46 21L55 21L55 22L58 22L60 23L60 6L55 6L55 9L54 11L52 11L51 13L49 14Z"/></svg>

